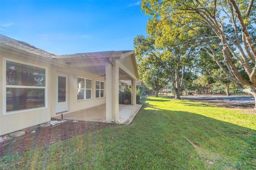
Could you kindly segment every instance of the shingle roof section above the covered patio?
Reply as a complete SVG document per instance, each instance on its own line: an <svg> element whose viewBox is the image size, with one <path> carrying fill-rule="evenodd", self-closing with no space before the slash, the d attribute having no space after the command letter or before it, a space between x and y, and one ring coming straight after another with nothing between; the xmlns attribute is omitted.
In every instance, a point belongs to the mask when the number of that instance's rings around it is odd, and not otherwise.
<svg viewBox="0 0 256 170"><path fill-rule="evenodd" d="M102 52L92 52L92 53L76 53L70 55L57 55L57 58L73 58L73 57L88 57L88 56L104 56L104 55L121 55L128 53L132 50L126 51L102 51Z"/></svg>

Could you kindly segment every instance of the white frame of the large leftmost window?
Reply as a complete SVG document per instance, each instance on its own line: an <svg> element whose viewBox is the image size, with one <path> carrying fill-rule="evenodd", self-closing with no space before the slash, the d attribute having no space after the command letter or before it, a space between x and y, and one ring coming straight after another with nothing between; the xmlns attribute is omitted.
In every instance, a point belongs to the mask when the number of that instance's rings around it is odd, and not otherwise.
<svg viewBox="0 0 256 170"><path fill-rule="evenodd" d="M29 65L29 66L33 66L33 67L38 67L38 68L42 68L45 69L45 86L41 87L41 86L22 86L22 85L6 85L6 61L11 61L14 63L19 63L19 64L24 64L24 65ZM36 111L36 110L42 110L42 109L47 109L48 108L48 89L47 89L47 77L48 77L48 68L47 67L43 67L40 65L36 65L36 64L32 64L32 63L27 63L24 61L19 61L16 59L9 59L6 57L3 57L3 78L2 78L2 82L3 82L3 115L11 115L11 114L16 114L16 113L23 113L23 112L28 112L28 111ZM31 108L31 109L22 109L22 110L18 110L18 111L8 111L6 112L6 88L24 88L24 89L44 89L44 107L37 107L37 108Z"/></svg>

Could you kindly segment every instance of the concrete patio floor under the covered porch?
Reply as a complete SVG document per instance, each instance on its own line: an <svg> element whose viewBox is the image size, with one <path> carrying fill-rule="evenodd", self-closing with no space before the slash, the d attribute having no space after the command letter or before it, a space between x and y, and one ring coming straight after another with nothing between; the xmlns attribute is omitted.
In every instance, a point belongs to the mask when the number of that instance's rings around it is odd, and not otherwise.
<svg viewBox="0 0 256 170"><path fill-rule="evenodd" d="M119 105L120 124L132 122L142 105ZM61 115L54 117L61 119ZM63 115L63 119L91 122L106 122L106 104Z"/></svg>

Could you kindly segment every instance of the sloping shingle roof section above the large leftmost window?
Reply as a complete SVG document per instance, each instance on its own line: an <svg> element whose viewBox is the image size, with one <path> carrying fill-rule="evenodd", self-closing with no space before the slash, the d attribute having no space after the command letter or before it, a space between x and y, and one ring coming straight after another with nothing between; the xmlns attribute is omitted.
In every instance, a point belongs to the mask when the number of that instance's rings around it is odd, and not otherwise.
<svg viewBox="0 0 256 170"><path fill-rule="evenodd" d="M0 43L11 46L11 47L15 47L17 49L21 49L23 51L27 51L29 53L40 55L42 57L55 58L55 55L52 53L48 53L47 51L36 48L35 46L33 46L29 43L14 40L14 39L6 37L2 34L0 34Z"/></svg>

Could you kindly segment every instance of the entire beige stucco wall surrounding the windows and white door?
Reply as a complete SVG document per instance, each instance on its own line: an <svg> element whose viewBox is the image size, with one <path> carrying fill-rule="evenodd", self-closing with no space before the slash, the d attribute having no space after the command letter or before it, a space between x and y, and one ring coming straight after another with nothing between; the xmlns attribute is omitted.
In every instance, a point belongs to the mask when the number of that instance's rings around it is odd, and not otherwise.
<svg viewBox="0 0 256 170"><path fill-rule="evenodd" d="M5 83L5 77L3 77L5 70L3 70L4 64L3 57L7 59L14 59L17 62L22 61L29 64L35 64L38 66L46 67L46 108L33 110L33 111L23 111L22 113L6 114L3 115L3 91L6 90L3 87ZM39 56L40 57L40 56ZM86 71L60 67L56 65L51 65L49 62L44 62L44 59L37 59L32 56L17 53L15 51L5 51L0 52L0 135L21 130L23 128L31 127L34 125L39 125L50 121L51 117L56 117L56 99L57 99L57 73L62 73L68 75L68 111L63 114L71 113L74 111L79 111L82 109L87 109L89 107L94 107L97 105L102 105L106 103L106 81L105 77L98 77L92 73ZM83 77L92 79L92 99L85 101L77 100L77 78ZM95 89L96 80L105 82L104 98L96 99Z"/></svg>

